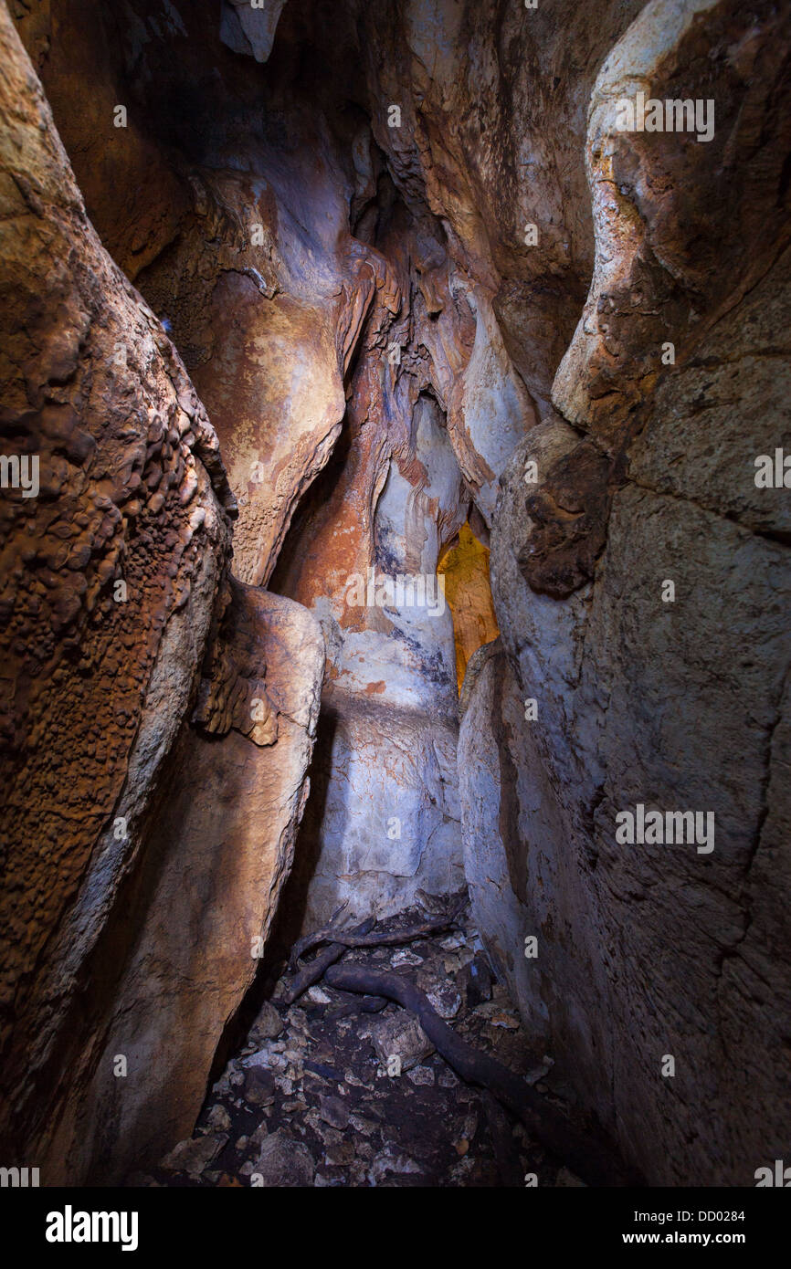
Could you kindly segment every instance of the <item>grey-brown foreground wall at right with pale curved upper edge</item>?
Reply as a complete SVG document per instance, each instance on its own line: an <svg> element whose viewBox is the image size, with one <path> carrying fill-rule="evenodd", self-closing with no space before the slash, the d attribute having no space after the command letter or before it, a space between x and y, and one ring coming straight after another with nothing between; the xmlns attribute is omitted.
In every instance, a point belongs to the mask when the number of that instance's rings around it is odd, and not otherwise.
<svg viewBox="0 0 791 1269"><path fill-rule="evenodd" d="M493 530L521 742L502 735L494 657L462 725L463 755L491 718L485 772L462 788L466 858L485 834L513 874L500 820L527 871L504 906L479 890L491 945L547 1052L665 1185L753 1184L782 1152L791 1093L787 508L754 480L787 443L785 20L649 4L602 66L597 263L552 392L568 421L547 415L519 447ZM714 100L711 142L618 132L616 103L639 89ZM637 803L712 812L712 849L618 843Z"/></svg>

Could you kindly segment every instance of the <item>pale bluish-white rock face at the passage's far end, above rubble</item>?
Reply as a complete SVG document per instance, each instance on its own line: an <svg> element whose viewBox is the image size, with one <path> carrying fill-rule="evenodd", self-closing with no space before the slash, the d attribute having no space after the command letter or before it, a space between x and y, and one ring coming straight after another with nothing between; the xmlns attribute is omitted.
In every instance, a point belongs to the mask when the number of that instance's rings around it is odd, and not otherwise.
<svg viewBox="0 0 791 1269"><path fill-rule="evenodd" d="M453 627L437 562L443 527L455 533L467 504L435 400L420 396L406 426L358 543L358 570L339 570L325 593L335 561L324 549L339 532L331 520L319 538L312 523L301 527L316 543L316 571L283 570L284 582L322 614L328 636L314 794L295 878L307 887L307 928L342 902L349 916L389 914L419 890L463 886ZM295 541L301 553L301 533Z"/></svg>

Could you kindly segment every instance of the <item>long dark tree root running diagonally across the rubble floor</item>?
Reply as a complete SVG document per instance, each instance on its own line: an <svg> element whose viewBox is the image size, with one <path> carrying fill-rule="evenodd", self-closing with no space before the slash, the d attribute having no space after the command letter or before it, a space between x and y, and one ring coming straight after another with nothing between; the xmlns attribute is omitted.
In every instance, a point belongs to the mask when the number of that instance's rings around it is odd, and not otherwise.
<svg viewBox="0 0 791 1269"><path fill-rule="evenodd" d="M331 964L325 981L340 991L386 996L415 1015L437 1052L467 1084L489 1089L527 1131L588 1185L634 1185L607 1148L584 1136L519 1075L467 1044L432 1009L428 997L401 975L359 964Z"/></svg>

